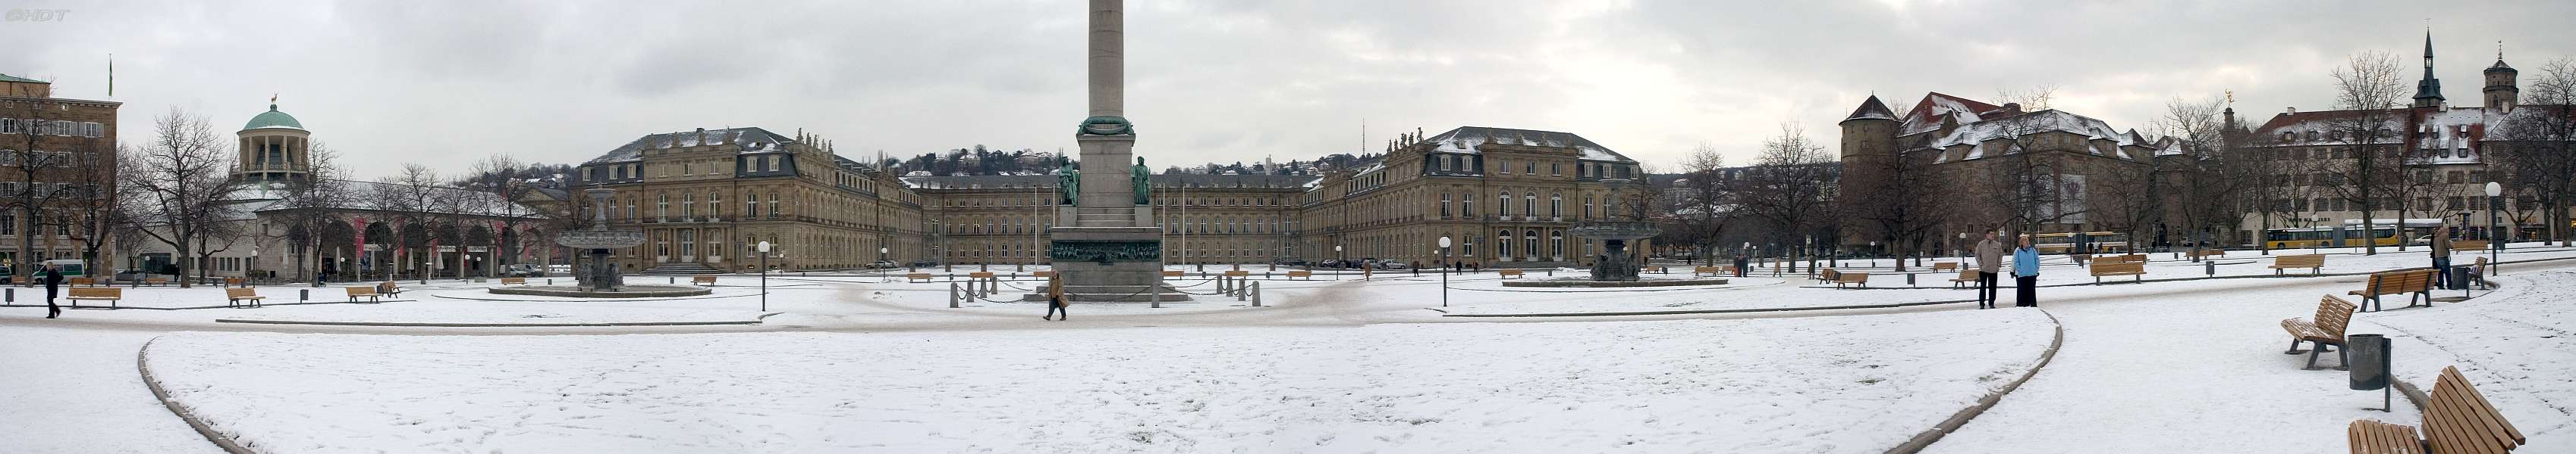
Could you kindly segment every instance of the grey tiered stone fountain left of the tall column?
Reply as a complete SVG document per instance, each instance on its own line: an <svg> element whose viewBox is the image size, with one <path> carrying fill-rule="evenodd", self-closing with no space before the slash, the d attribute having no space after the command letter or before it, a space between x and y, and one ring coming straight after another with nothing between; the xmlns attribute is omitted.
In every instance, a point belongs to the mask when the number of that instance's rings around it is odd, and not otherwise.
<svg viewBox="0 0 2576 454"><path fill-rule="evenodd" d="M626 285L626 274L618 272L618 264L608 262L608 249L641 246L644 233L608 228L608 195L616 195L616 190L592 187L585 192L598 205L598 210L590 210L590 228L554 236L554 244L590 251L590 262L582 269L572 269L577 285L520 285L492 287L492 292L551 298L683 298L714 292L696 285Z"/></svg>

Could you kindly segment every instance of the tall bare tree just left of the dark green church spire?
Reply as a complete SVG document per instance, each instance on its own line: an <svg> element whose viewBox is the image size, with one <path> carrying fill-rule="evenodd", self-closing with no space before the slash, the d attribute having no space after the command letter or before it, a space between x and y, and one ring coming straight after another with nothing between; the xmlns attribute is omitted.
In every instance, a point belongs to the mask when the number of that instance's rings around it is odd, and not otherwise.
<svg viewBox="0 0 2576 454"><path fill-rule="evenodd" d="M2334 108L2342 113L2326 121L2326 139L2347 144L2352 162L2349 167L2326 167L2329 185L2318 187L2352 200L2362 210L2362 228L2378 223L2380 200L2396 192L2391 185L2406 185L2406 177L2398 174L2403 162L2388 162L2406 149L2396 144L2403 136L2403 126L2398 126L2406 115L2398 110L2403 105L2406 80L2396 56L2362 51L2334 69ZM2362 244L2365 254L2380 254L2378 241Z"/></svg>

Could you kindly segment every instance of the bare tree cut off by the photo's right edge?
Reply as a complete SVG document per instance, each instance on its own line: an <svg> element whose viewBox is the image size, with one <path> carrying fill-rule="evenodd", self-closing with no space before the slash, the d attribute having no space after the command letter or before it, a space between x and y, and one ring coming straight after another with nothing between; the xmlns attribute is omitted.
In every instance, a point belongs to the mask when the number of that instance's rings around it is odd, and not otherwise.
<svg viewBox="0 0 2576 454"><path fill-rule="evenodd" d="M2550 241L2566 246L2568 208L2576 205L2576 59L2555 59L2532 77L2514 115L2506 115L2504 180L2519 205L2537 205ZM2522 203L2530 200L2530 203ZM2514 218L2522 218L2519 213Z"/></svg>

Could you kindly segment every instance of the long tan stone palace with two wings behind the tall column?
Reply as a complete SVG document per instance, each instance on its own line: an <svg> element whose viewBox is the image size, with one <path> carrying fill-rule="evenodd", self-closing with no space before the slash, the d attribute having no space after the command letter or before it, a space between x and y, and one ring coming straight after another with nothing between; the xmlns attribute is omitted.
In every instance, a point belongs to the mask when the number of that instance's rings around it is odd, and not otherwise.
<svg viewBox="0 0 2576 454"><path fill-rule="evenodd" d="M616 190L608 223L647 244L613 251L631 272L773 267L1046 264L1048 174L894 177L814 136L762 128L649 133L580 167L580 190ZM1605 218L1602 180L1643 177L1628 156L1574 133L1453 128L1406 136L1363 169L1306 174L1154 174L1154 218L1172 264L1391 259L1484 267L1577 267L1569 239ZM590 203L564 210L587 218ZM1340 246L1340 251L1337 251Z"/></svg>

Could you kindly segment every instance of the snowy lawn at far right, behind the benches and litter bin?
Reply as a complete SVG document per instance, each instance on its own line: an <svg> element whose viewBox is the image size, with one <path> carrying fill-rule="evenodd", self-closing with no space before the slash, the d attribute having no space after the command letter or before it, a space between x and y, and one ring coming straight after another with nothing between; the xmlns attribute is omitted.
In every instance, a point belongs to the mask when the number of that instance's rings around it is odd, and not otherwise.
<svg viewBox="0 0 2576 454"><path fill-rule="evenodd" d="M2522 451L2576 451L2576 269L2499 280L2501 290L2465 303L2362 315L2352 333L2388 333L2398 380L2427 392L2442 367L2460 367L2530 436ZM2421 416L2380 421L2416 426Z"/></svg>

